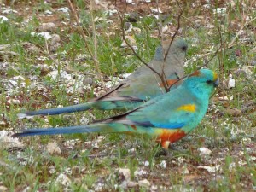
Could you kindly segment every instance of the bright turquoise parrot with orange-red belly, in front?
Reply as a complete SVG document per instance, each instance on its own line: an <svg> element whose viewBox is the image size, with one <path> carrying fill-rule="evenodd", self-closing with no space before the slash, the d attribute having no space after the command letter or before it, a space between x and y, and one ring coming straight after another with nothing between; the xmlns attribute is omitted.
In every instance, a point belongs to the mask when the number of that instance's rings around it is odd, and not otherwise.
<svg viewBox="0 0 256 192"><path fill-rule="evenodd" d="M163 148L185 137L207 113L209 99L218 85L218 75L201 69L166 94L157 96L127 113L91 125L26 129L14 137L89 132L146 134L155 137Z"/></svg>

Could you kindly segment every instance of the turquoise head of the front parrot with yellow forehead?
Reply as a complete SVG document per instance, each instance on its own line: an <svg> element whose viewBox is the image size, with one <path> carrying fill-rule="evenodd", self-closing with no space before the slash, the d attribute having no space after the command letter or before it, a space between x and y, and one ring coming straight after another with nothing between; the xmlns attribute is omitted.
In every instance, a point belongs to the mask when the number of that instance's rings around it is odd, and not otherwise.
<svg viewBox="0 0 256 192"><path fill-rule="evenodd" d="M218 86L218 74L210 69L200 69L190 74L184 83L189 84L189 89L196 96L209 98Z"/></svg>

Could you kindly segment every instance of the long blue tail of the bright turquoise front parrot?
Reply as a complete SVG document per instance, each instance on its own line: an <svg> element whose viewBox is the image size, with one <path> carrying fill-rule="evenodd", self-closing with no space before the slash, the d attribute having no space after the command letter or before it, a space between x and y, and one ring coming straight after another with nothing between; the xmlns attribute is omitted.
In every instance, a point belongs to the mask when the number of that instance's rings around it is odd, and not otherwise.
<svg viewBox="0 0 256 192"><path fill-rule="evenodd" d="M58 128L20 130L20 131L16 131L16 133L12 137L89 133L89 132L111 132L111 131L113 131L112 128L105 124L81 125L81 126L58 127Z"/></svg>

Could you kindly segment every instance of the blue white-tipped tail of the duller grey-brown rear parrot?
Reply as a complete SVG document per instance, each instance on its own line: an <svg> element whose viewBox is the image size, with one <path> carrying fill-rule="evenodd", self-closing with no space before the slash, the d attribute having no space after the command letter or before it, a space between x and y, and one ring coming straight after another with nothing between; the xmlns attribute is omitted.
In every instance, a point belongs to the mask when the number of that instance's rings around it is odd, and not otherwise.
<svg viewBox="0 0 256 192"><path fill-rule="evenodd" d="M67 106L64 108L50 108L50 109L43 109L38 111L28 111L25 113L18 113L19 119L29 118L36 115L55 115L61 113L73 113L73 112L80 112L86 111L92 108L93 102L86 102L79 105Z"/></svg>

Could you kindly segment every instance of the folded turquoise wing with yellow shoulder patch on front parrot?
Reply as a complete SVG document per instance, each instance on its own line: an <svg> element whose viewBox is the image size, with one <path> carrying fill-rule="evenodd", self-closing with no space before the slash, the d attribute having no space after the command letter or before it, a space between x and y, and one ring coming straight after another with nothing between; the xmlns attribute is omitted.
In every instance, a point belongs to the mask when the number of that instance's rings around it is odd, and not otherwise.
<svg viewBox="0 0 256 192"><path fill-rule="evenodd" d="M188 90L177 90L158 96L157 100L152 99L130 112L105 119L102 123L116 122L166 129L182 128L195 118L198 108L195 107L196 98L190 96Z"/></svg>

